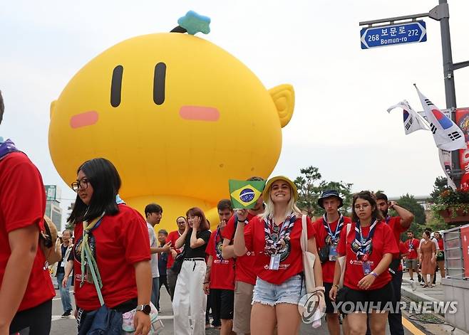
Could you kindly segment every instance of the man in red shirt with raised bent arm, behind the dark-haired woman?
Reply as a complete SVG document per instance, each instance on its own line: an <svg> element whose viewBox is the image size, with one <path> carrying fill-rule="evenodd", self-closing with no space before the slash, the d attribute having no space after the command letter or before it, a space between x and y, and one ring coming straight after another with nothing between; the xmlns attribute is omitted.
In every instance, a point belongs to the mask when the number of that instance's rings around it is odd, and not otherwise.
<svg viewBox="0 0 469 335"><path fill-rule="evenodd" d="M406 208L402 208L398 206L396 201L389 201L388 197L384 193L376 193L376 205L378 209L383 213L385 218L386 224L389 225L391 230L393 231L394 239L396 240L397 247L399 246L399 240L401 240L401 233L408 230L411 226L413 221L413 214L406 210ZM388 209L391 208L397 212L398 216L389 216ZM393 261L389 266L391 275L393 275L393 279L391 280L391 284L393 285L394 289L394 298L397 304L401 302L401 285L402 285L402 265L401 260L399 259L398 255L393 257ZM393 273L394 272L394 273ZM388 314L388 322L389 322L389 330L393 335L403 335L404 329L402 325L402 314L401 309L398 308L398 313L389 313Z"/></svg>

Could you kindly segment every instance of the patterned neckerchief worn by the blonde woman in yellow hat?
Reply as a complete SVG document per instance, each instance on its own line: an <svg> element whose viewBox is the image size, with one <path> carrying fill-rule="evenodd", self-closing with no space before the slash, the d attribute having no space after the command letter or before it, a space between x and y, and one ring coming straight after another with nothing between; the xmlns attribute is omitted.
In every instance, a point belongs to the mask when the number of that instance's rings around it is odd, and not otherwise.
<svg viewBox="0 0 469 335"><path fill-rule="evenodd" d="M275 225L273 218L264 218L265 253L277 254L287 243L297 217L292 212L282 223L282 227ZM277 228L275 228L277 227ZM277 230L278 229L278 230Z"/></svg>

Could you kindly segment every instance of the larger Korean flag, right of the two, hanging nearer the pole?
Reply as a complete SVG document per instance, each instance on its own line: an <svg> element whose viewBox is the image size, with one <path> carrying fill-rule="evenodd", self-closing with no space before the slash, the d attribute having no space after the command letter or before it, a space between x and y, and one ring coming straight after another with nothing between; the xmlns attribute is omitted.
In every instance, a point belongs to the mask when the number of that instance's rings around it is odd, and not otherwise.
<svg viewBox="0 0 469 335"><path fill-rule="evenodd" d="M430 124L436 147L447 151L466 149L463 131L446 115L441 112L433 102L427 99L417 88L418 97L422 102L423 111Z"/></svg>

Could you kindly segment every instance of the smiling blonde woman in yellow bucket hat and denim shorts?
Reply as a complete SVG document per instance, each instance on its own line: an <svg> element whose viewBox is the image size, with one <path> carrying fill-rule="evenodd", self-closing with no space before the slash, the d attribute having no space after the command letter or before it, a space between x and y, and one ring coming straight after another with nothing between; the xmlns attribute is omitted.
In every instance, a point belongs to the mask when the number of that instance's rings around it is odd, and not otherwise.
<svg viewBox="0 0 469 335"><path fill-rule="evenodd" d="M300 238L301 211L296 205L298 191L284 176L267 181L263 191L265 210L262 215L238 224L234 233L234 254L255 253L254 271L257 275L252 297L251 333L278 335L297 334L300 314L298 304L306 294ZM244 222L247 210L237 211L237 219ZM315 232L306 217L308 251L316 258ZM245 230L245 231L244 231ZM320 262L314 263L316 288L324 292Z"/></svg>

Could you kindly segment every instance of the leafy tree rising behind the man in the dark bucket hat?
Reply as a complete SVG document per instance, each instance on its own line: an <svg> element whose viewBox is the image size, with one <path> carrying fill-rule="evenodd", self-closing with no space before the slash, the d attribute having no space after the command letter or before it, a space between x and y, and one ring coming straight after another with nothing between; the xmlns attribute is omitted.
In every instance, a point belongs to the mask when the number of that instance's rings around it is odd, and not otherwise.
<svg viewBox="0 0 469 335"><path fill-rule="evenodd" d="M351 207L351 186L353 184L344 183L343 181L324 181L319 169L315 166L308 166L299 170L301 176L294 180L298 188L298 202L300 209L306 211L309 216L321 216L324 210L319 207L317 201L321 193L326 190L339 191L344 198L344 209L347 211Z"/></svg>

